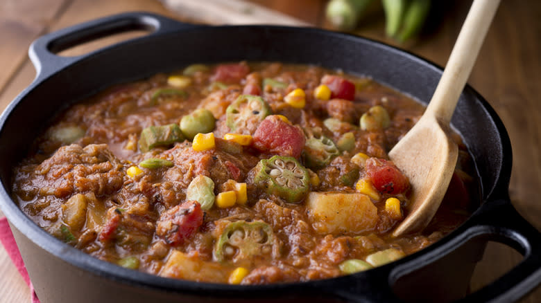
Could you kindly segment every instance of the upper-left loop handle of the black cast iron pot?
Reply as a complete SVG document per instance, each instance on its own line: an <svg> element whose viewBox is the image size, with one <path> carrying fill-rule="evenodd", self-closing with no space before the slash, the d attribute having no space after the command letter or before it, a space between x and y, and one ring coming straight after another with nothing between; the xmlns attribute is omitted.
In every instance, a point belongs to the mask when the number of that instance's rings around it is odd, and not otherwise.
<svg viewBox="0 0 541 303"><path fill-rule="evenodd" d="M151 30L149 35L162 35L182 28L199 27L184 24L167 17L149 12L125 12L118 15L103 17L83 24L70 26L43 35L36 39L28 50L28 55L36 69L36 80L55 73L69 64L83 59L98 50L85 55L63 57L55 55L67 48L90 42L94 39L107 37L130 30ZM137 38L135 38L137 39Z"/></svg>

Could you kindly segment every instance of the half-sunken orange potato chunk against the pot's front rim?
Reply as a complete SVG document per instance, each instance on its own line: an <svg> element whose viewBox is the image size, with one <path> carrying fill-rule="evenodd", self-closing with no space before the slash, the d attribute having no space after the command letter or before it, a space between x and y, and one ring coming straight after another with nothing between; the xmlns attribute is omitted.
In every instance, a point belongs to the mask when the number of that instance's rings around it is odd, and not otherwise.
<svg viewBox="0 0 541 303"><path fill-rule="evenodd" d="M162 277L187 279L197 282L227 283L227 274L220 264L191 257L178 250L173 250L160 271Z"/></svg>

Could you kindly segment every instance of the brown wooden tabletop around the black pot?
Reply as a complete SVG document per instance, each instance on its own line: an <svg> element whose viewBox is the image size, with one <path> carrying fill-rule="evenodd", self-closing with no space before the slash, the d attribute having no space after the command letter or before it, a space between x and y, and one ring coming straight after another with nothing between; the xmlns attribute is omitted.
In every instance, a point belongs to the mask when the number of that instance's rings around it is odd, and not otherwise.
<svg viewBox="0 0 541 303"><path fill-rule="evenodd" d="M328 28L325 0L254 0L275 10ZM445 17L430 33L403 48L445 65L471 1L445 1ZM169 12L157 0L2 0L0 1L0 110L28 86L35 75L26 55L38 36L82 21L128 10ZM357 33L393 43L384 37L381 12L373 12ZM510 196L519 212L541 229L541 1L504 0L469 83L496 109L513 144ZM111 42L97 42L79 50ZM0 212L0 216L3 216ZM477 266L472 289L479 288L512 268L521 256L502 244L489 244ZM28 287L0 248L0 302L29 302ZM541 302L541 288L521 302Z"/></svg>

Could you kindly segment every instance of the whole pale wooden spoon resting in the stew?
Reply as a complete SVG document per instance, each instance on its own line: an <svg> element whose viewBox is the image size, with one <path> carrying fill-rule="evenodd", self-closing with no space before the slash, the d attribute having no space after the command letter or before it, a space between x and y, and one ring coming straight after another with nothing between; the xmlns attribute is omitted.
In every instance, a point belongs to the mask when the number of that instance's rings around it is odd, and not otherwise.
<svg viewBox="0 0 541 303"><path fill-rule="evenodd" d="M393 231L398 237L422 230L438 210L456 166L458 147L449 122L500 0L475 0L456 39L449 62L419 122L389 152L409 178L409 214Z"/></svg>

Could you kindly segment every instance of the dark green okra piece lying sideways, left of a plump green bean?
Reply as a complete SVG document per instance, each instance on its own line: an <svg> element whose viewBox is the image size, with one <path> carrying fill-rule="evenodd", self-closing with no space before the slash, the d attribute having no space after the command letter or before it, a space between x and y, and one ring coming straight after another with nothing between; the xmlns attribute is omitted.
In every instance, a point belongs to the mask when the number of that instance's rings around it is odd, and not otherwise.
<svg viewBox="0 0 541 303"><path fill-rule="evenodd" d="M183 140L182 131L176 124L146 127L139 137L139 149L148 152L154 147L168 146Z"/></svg>

